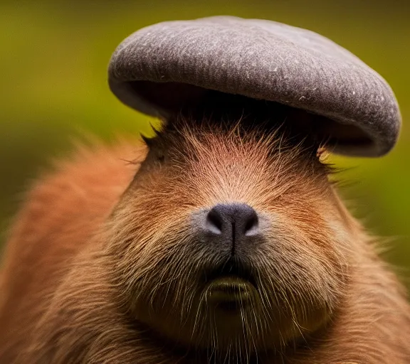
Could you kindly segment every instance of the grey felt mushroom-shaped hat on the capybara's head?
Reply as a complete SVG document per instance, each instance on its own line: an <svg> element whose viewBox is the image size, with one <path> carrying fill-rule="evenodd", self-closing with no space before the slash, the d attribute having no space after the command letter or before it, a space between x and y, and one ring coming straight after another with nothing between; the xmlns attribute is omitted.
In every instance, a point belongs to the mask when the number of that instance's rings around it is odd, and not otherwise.
<svg viewBox="0 0 410 364"><path fill-rule="evenodd" d="M328 38L275 21L157 23L118 46L108 73L122 102L158 117L205 90L303 109L325 118L338 154L387 154L401 126L396 97L378 73Z"/></svg>

